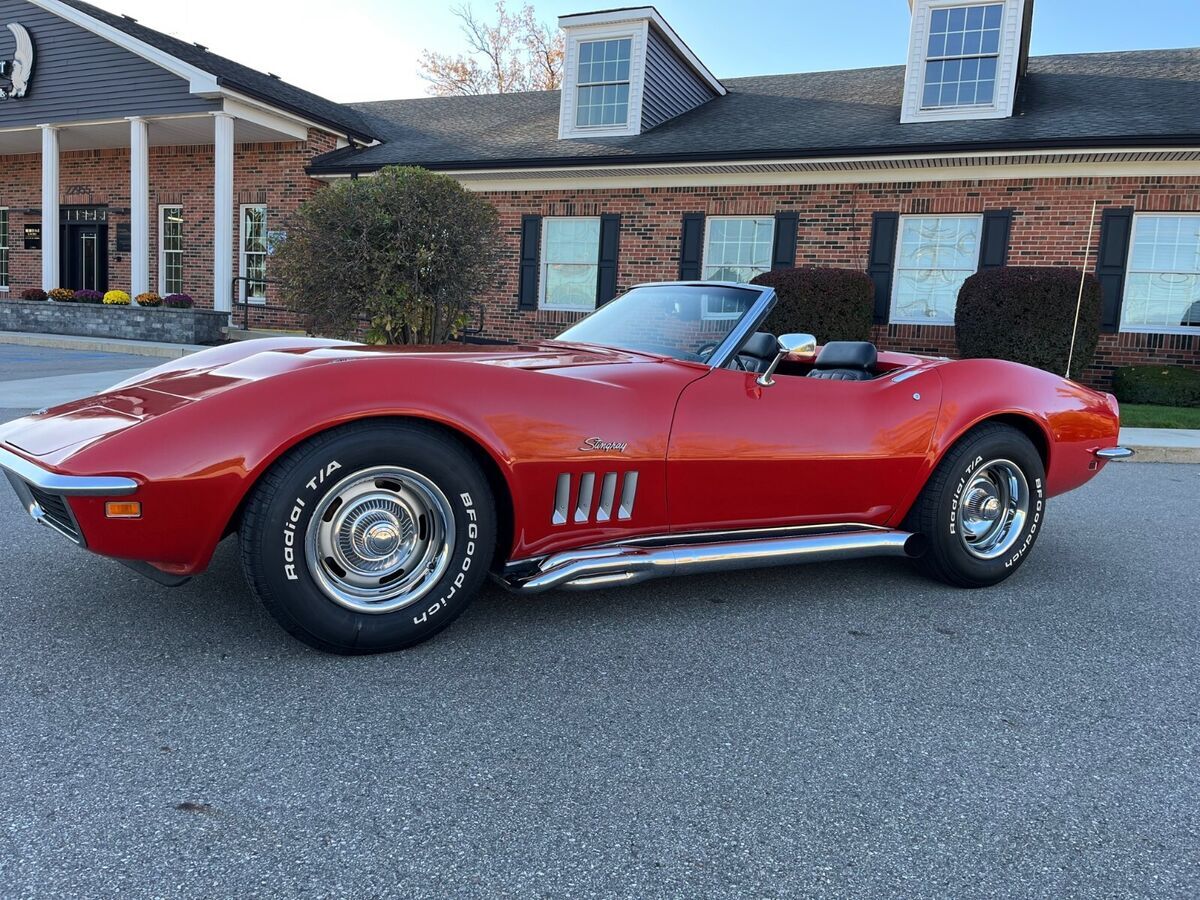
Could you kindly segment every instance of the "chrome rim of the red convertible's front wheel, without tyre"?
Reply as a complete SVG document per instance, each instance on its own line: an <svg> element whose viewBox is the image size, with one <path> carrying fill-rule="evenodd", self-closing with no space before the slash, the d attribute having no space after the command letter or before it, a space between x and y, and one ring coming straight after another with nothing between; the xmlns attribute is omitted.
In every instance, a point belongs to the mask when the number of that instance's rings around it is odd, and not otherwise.
<svg viewBox="0 0 1200 900"><path fill-rule="evenodd" d="M366 613L401 610L445 575L455 546L454 510L412 469L380 466L334 486L305 539L308 570L336 604Z"/></svg>

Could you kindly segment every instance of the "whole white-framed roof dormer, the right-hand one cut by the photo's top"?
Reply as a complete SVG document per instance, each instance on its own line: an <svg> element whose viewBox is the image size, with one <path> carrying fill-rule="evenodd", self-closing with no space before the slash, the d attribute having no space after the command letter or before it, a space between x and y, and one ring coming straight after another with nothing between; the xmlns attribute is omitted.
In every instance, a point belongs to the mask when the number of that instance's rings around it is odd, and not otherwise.
<svg viewBox="0 0 1200 900"><path fill-rule="evenodd" d="M912 35L900 121L1013 114L1032 0L910 0Z"/></svg>

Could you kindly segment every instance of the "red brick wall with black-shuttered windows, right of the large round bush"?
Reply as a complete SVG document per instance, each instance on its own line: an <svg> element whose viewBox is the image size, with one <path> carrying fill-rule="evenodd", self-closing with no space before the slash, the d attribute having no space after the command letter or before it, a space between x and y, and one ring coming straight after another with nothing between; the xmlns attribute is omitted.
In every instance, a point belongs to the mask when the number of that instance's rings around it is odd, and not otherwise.
<svg viewBox="0 0 1200 900"><path fill-rule="evenodd" d="M797 265L866 269L871 214L977 214L1013 209L1009 265L1079 268L1084 262L1092 202L1099 203L1088 268L1094 269L1104 206L1138 211L1200 211L1200 176L1139 179L1012 179L776 187L659 187L623 191L492 192L500 211L511 265L497 274L486 296L486 334L520 340L552 336L578 318L517 308L521 217L617 212L620 223L618 290L678 277L679 230L686 212L709 216L774 215L796 210ZM817 336L820 338L820 335ZM954 329L944 325L881 325L883 348L955 355ZM1087 380L1106 385L1121 365L1170 362L1200 366L1200 336L1104 335Z"/></svg>

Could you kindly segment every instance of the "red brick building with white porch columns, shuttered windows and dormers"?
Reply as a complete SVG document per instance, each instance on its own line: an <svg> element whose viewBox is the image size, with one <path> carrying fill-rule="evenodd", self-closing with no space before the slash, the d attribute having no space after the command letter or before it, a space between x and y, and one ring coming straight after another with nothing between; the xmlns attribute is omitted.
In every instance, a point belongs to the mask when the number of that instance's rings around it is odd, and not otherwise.
<svg viewBox="0 0 1200 900"><path fill-rule="evenodd" d="M104 275L286 324L258 304L288 214L416 164L500 212L488 337L552 336L644 281L820 264L871 275L882 347L953 354L971 272L1086 259L1090 380L1200 366L1200 50L1030 58L1032 0L910 6L899 67L721 80L638 7L560 19L562 91L340 106L83 2L0 0L38 56L0 101L0 284ZM110 84L70 66L86 41Z"/></svg>

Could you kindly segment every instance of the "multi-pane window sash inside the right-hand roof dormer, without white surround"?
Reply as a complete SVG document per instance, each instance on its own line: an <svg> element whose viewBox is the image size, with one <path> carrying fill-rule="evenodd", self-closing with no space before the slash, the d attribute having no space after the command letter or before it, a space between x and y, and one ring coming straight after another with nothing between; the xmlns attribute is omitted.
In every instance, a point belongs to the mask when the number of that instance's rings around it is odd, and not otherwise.
<svg viewBox="0 0 1200 900"><path fill-rule="evenodd" d="M1003 4L932 10L923 109L991 106Z"/></svg>

